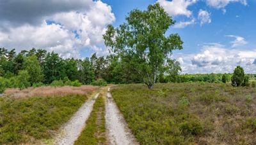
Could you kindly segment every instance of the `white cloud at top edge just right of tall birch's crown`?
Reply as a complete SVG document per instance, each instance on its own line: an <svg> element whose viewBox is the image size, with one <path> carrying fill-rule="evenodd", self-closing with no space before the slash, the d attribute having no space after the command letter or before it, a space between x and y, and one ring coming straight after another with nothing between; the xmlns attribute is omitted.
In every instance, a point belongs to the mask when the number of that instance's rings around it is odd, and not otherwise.
<svg viewBox="0 0 256 145"><path fill-rule="evenodd" d="M163 6L164 10L171 16L185 15L191 17L192 11L188 10L188 6L195 4L197 0L158 0L157 2Z"/></svg>

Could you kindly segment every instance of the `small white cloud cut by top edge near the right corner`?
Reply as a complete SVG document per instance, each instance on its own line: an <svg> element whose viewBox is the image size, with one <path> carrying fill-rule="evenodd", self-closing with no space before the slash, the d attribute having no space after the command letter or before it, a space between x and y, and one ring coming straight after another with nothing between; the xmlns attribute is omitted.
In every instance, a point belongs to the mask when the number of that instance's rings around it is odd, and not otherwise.
<svg viewBox="0 0 256 145"><path fill-rule="evenodd" d="M224 11L225 11L225 7L229 3L235 3L235 2L239 2L243 5L247 4L246 0L206 0L206 3L208 6L212 6L218 9L223 9Z"/></svg>

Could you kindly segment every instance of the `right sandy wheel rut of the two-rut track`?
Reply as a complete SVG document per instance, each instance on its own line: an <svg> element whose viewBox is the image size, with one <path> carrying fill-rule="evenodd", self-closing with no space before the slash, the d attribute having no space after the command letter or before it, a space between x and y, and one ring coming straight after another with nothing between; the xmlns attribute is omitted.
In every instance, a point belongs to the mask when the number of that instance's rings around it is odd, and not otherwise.
<svg viewBox="0 0 256 145"><path fill-rule="evenodd" d="M127 127L127 123L116 106L109 89L106 100L105 118L108 138L111 144L138 144L131 130Z"/></svg>

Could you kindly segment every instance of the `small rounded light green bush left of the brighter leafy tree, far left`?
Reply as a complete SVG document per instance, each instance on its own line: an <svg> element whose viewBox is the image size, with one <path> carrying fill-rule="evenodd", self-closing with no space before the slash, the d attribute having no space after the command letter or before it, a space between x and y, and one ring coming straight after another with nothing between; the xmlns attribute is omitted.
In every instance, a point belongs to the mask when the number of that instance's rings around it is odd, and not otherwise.
<svg viewBox="0 0 256 145"><path fill-rule="evenodd" d="M31 85L29 79L30 76L28 71L19 71L18 76L14 79L14 83L20 89L28 88Z"/></svg>

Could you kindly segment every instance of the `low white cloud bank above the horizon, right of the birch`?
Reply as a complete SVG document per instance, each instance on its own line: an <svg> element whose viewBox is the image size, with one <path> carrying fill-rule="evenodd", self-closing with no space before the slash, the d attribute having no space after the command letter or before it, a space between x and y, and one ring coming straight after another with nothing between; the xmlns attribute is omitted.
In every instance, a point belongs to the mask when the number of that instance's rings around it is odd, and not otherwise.
<svg viewBox="0 0 256 145"><path fill-rule="evenodd" d="M237 50L220 44L204 44L199 53L173 54L177 60L182 58L182 73L232 72L242 66L246 73L256 72L256 49Z"/></svg>

